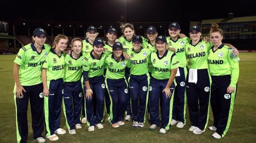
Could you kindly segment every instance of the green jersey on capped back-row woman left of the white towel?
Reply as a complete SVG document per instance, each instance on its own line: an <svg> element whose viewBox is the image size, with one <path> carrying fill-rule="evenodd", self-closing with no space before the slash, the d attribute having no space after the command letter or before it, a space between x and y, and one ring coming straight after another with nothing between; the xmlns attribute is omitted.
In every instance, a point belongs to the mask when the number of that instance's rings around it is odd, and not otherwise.
<svg viewBox="0 0 256 143"><path fill-rule="evenodd" d="M186 54L185 54L185 45L190 42L190 39L178 38L177 41L173 41L171 37L166 37L168 47L174 47L176 50L177 59L180 62L180 67L184 68L187 65Z"/></svg>

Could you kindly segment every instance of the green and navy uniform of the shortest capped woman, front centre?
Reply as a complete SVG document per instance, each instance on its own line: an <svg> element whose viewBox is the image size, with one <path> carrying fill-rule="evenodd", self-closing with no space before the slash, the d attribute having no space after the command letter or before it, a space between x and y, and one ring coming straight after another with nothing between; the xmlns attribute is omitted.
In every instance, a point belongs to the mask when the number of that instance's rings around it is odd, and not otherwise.
<svg viewBox="0 0 256 143"><path fill-rule="evenodd" d="M125 68L129 66L130 61L125 61L124 56L121 61L116 61L114 54L106 58L105 83L110 96L110 122L115 124L122 121L126 109L128 84L124 77Z"/></svg>

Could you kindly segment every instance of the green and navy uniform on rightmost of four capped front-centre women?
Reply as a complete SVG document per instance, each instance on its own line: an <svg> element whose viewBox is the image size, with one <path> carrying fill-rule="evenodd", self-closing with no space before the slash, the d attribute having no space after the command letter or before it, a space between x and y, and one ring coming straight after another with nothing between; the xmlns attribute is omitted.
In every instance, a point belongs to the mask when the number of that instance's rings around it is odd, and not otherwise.
<svg viewBox="0 0 256 143"><path fill-rule="evenodd" d="M172 119L174 95L166 98L165 89L171 70L179 67L179 61L176 54L170 50L166 50L160 58L158 51L155 50L150 55L150 63L153 65L152 77L150 79L150 121L151 124L160 125L159 120L159 99L161 107L161 128L169 129ZM175 83L170 86L170 92L174 93Z"/></svg>

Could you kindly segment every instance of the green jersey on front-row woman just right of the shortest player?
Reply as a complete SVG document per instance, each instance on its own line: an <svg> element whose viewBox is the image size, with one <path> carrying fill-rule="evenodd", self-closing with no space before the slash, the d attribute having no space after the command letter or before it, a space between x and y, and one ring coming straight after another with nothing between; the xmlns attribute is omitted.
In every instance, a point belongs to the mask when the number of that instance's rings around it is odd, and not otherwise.
<svg viewBox="0 0 256 143"><path fill-rule="evenodd" d="M132 75L143 75L148 72L148 57L150 55L150 49L142 48L139 52L134 50L128 51L130 55L130 73Z"/></svg>

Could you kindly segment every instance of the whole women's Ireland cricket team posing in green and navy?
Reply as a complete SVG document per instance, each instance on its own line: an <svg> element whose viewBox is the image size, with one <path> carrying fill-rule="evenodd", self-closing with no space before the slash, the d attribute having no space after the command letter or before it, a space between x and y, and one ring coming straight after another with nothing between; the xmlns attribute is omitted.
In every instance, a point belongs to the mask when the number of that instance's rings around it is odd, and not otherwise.
<svg viewBox="0 0 256 143"><path fill-rule="evenodd" d="M121 27L118 39L114 27L103 41L96 38L97 28L89 26L85 40L68 41L58 35L52 47L45 43L45 30L34 30L33 42L19 49L13 66L17 142L28 139L29 101L37 142L46 142L44 127L51 141L66 133L60 128L61 106L69 134L76 134L81 123L89 132L102 129L104 106L113 128L123 126L124 120L143 128L148 111L149 129L165 134L170 126L184 127L186 105L189 131L202 134L211 105L211 136L226 135L236 97L239 52L222 43L219 25L211 25L210 38L201 38L197 25L190 27L188 38L177 22L169 24L169 37L158 35L154 26L147 28L146 38L135 35L131 23Z"/></svg>

